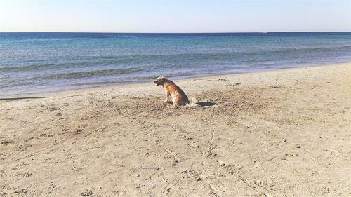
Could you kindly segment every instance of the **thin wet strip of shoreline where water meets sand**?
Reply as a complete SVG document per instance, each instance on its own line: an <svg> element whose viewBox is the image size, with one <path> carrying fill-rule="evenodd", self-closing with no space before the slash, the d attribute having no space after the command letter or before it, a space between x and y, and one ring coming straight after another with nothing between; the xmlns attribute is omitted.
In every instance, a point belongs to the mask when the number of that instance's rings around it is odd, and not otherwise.
<svg viewBox="0 0 351 197"><path fill-rule="evenodd" d="M262 73L262 72L274 72L279 70L289 70L289 69L300 69L300 68L308 68L308 67L331 67L331 66L338 66L340 64L350 64L351 62L333 62L333 63L325 63L325 64L301 64L291 67L278 67L272 69L261 69L261 70L254 70L248 72L233 72L227 74L208 74L208 75L199 75L199 76L190 76L190 77L175 77L170 78L173 81L185 81L185 80L194 80L194 79L208 79L208 78L218 78L218 77L226 77L226 76L234 76L237 74L254 74L254 73ZM153 81L153 80L150 80ZM69 93L76 90L95 90L101 88L124 88L124 87L133 87L133 86L143 86L145 84L150 83L150 81L135 81L135 82L121 82L121 83L113 83L111 85L101 85L101 86L94 86L94 87L84 87L84 88L77 88L77 89L67 89L67 90L53 90L53 91L44 91L41 93L19 93L14 95L6 95L1 96L0 100L11 100L13 98L20 99L21 97L46 97L48 95L54 95L55 93Z"/></svg>

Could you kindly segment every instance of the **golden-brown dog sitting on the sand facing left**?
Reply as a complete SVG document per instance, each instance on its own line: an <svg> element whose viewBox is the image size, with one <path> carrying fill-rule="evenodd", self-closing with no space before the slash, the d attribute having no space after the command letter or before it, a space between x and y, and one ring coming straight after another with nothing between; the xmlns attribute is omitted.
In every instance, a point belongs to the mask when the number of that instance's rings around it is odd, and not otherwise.
<svg viewBox="0 0 351 197"><path fill-rule="evenodd" d="M164 88L166 92L166 100L164 103L169 103L170 100L172 100L173 104L176 106L189 104L187 95L185 95L184 91L173 83L173 81L166 79L164 76L159 76L154 83L156 83L156 86L161 85L162 88Z"/></svg>

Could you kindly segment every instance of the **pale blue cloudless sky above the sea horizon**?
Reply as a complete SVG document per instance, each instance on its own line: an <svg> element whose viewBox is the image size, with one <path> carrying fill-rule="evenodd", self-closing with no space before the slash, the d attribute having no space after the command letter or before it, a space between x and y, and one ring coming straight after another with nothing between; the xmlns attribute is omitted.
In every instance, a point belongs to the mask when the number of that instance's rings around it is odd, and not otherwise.
<svg viewBox="0 0 351 197"><path fill-rule="evenodd" d="M0 0L0 32L351 32L351 0Z"/></svg>

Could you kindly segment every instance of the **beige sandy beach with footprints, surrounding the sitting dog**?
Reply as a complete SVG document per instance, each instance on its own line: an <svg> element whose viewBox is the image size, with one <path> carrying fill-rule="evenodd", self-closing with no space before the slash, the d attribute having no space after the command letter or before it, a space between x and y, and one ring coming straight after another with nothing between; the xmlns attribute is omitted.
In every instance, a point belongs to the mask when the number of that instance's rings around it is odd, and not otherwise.
<svg viewBox="0 0 351 197"><path fill-rule="evenodd" d="M0 196L351 196L351 64L0 100Z"/></svg>

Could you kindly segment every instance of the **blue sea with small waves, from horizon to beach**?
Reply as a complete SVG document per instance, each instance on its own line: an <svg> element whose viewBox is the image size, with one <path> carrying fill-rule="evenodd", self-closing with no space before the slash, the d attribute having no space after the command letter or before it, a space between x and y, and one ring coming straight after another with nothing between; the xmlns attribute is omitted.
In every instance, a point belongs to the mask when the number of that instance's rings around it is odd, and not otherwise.
<svg viewBox="0 0 351 197"><path fill-rule="evenodd" d="M0 33L0 97L351 61L351 32Z"/></svg>

